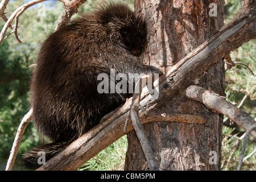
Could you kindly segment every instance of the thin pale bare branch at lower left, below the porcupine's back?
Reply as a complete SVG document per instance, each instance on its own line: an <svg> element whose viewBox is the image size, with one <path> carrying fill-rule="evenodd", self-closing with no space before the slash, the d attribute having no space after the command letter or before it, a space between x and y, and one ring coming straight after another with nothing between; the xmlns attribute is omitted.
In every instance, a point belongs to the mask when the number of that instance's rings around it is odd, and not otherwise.
<svg viewBox="0 0 256 182"><path fill-rule="evenodd" d="M32 113L33 110L31 109L22 119L21 124L19 125L17 134L15 136L13 147L11 148L10 156L6 165L6 171L11 171L13 169L13 165L15 162L15 158L18 153L19 145L21 144L21 139L23 136L23 133L29 124L29 122L32 120Z"/></svg>

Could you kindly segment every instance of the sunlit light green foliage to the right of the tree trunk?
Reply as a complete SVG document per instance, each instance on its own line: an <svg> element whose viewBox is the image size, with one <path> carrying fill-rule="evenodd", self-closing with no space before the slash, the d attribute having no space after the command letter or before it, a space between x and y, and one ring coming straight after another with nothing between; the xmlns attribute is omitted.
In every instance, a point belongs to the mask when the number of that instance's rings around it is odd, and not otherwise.
<svg viewBox="0 0 256 182"><path fill-rule="evenodd" d="M227 2L225 23L237 15L242 6L242 1L230 0ZM256 77L253 76L253 73L256 73L256 41L250 40L250 42L243 44L237 50L233 51L230 56L234 62L239 62L239 64L226 71L227 100L237 106L242 104L240 108L250 114L251 117L256 118ZM247 65L250 69L240 63ZM245 96L247 97L243 102L242 100ZM238 126L236 126L236 129L223 126L223 170L237 169L243 142L240 137L242 137L243 133L244 130ZM246 145L245 156L251 154L255 148L255 140L250 138ZM256 155L254 154L243 163L242 170L255 170L255 164Z"/></svg>

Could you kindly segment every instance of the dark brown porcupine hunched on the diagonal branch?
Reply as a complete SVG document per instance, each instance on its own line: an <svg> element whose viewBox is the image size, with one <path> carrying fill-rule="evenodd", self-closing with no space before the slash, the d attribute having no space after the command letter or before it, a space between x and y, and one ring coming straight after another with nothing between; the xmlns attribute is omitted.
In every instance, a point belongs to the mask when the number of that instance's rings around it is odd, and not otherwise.
<svg viewBox="0 0 256 182"><path fill-rule="evenodd" d="M23 166L38 168L39 151L49 160L130 97L99 94L99 73L161 73L139 61L145 43L145 22L122 3L84 14L46 39L30 90L34 125L51 143L23 154Z"/></svg>

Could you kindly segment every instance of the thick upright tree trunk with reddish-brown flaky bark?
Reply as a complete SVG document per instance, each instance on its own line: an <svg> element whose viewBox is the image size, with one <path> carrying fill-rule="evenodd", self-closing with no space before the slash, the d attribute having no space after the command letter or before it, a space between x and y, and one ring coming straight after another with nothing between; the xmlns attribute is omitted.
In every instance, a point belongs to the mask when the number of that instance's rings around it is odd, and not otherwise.
<svg viewBox="0 0 256 182"><path fill-rule="evenodd" d="M135 0L147 23L147 49L143 63L169 71L179 60L209 39L223 26L224 2ZM213 5L213 6L212 6ZM216 8L216 9L215 9ZM214 16L215 15L215 16ZM224 96L224 62L194 80ZM161 94L161 93L159 93ZM144 125L159 169L220 170L222 115L199 102L187 100L185 91L165 102L163 113L200 115L205 124L153 122ZM127 135L126 170L148 170L145 155L134 131Z"/></svg>

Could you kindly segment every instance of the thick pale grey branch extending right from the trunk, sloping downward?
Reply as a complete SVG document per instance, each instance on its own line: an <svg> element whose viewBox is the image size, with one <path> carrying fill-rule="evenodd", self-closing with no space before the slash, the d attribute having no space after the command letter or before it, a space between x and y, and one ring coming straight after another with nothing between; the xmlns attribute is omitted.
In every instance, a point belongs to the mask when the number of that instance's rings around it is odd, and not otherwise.
<svg viewBox="0 0 256 182"><path fill-rule="evenodd" d="M237 106L234 106L218 94L210 92L205 88L195 85L189 86L189 88L186 89L186 96L192 100L201 102L209 109L213 109L218 113L226 115L226 117L245 130L249 130L251 126L255 125L254 119L245 111L238 109ZM256 139L256 131L251 131L251 136Z"/></svg>

